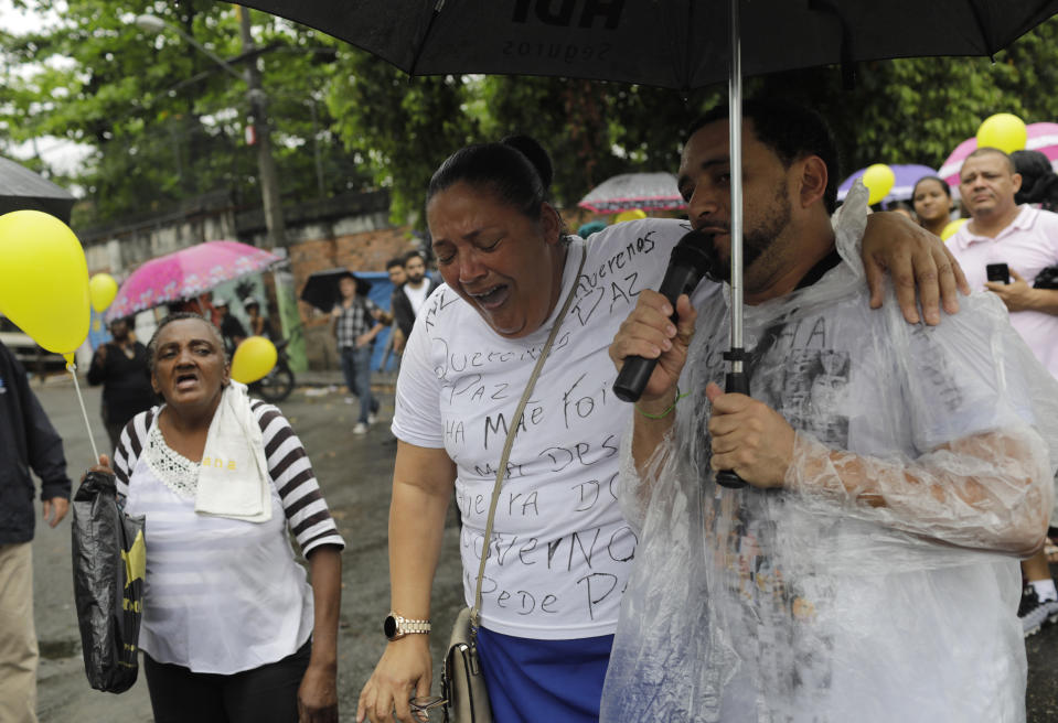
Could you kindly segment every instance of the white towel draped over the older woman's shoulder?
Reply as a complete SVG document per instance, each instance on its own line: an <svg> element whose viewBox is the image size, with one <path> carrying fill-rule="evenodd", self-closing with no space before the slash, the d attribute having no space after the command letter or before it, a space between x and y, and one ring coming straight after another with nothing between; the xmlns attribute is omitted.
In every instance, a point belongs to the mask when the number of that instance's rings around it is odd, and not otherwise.
<svg viewBox="0 0 1058 723"><path fill-rule="evenodd" d="M248 522L271 519L271 489L265 442L246 386L232 381L213 414L194 510Z"/></svg>

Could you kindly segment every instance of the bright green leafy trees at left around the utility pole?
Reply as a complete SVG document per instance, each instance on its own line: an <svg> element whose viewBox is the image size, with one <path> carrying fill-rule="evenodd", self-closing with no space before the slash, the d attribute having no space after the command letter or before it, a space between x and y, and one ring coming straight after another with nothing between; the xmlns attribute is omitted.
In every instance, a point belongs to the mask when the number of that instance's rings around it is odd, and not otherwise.
<svg viewBox="0 0 1058 723"><path fill-rule="evenodd" d="M233 6L139 0L115 13L98 0L25 4L61 9L62 21L6 39L0 129L11 142L55 136L93 147L68 180L89 202L78 207L75 224L157 213L214 190L231 191L241 205L259 205L256 151L244 140L246 85L177 33L152 35L132 23L139 13L156 14L234 58L242 72L255 58L238 57ZM328 130L333 118L321 101L333 47L271 15L253 18L285 201L319 196L320 177L323 195L363 187L356 164ZM317 143L327 147L319 163Z"/></svg>

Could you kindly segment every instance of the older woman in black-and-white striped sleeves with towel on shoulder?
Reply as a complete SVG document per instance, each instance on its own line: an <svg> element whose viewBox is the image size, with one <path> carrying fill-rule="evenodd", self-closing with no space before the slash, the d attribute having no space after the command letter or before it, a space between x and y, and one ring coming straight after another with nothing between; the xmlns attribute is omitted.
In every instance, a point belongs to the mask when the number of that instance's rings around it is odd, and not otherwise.
<svg viewBox="0 0 1058 723"><path fill-rule="evenodd" d="M344 542L304 447L231 380L205 319L169 316L148 352L164 403L125 428L114 473L126 511L146 517L139 645L156 721L338 721Z"/></svg>

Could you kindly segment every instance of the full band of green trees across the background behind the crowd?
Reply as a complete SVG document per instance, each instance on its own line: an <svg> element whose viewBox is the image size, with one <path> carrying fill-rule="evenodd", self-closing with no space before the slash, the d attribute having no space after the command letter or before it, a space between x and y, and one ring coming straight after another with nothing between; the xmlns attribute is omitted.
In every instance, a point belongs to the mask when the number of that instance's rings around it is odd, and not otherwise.
<svg viewBox="0 0 1058 723"><path fill-rule="evenodd" d="M237 69L236 9L211 0L15 0L53 10L57 26L0 33L0 143L55 136L87 143L65 181L86 190L75 224L158 213L213 190L260 203L246 145L246 86L175 33L132 24L145 12L178 25ZM682 130L726 87L691 94L566 78L408 78L322 33L252 13L286 203L387 187L396 220L423 225L430 174L456 148L512 132L536 137L555 164L554 196L575 204L616 173L673 170ZM747 95L819 108L846 171L875 162L939 166L987 116L1058 116L1058 20L988 58L864 63L852 89L836 68L750 78ZM31 165L41 170L39 161Z"/></svg>

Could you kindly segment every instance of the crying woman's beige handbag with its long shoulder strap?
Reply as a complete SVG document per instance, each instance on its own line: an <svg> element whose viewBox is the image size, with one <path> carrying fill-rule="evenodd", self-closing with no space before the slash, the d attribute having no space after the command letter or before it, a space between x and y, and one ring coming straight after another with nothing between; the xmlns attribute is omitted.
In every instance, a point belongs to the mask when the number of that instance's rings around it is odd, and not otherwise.
<svg viewBox="0 0 1058 723"><path fill-rule="evenodd" d="M577 279L584 271L584 261L588 256L588 250L584 250L580 257L580 266L577 268ZM522 392L522 399L519 401L514 418L511 420L511 428L507 432L506 442L503 444L503 454L500 455L500 470L496 473L496 482L492 487L492 504L489 506L489 521L485 524L485 544L484 550L489 549L489 541L492 539L492 521L496 514L496 503L500 499L500 487L503 485L503 477L507 466L507 458L511 456L511 447L514 446L514 433L522 421L522 413L525 411L525 404L533 393L533 387L536 386L536 379L539 377L541 369L544 367L544 360L551 353L552 343L558 335L558 328L563 320L566 319L566 312L573 303L573 298L577 293L577 279L574 279L573 288L566 295L566 302L563 304L558 319L551 330L544 350L536 360L533 374L525 385L525 391ZM447 720L452 723L491 723L492 706L489 704L489 691L485 689L485 679L481 672L481 661L478 659L478 626L481 621L481 579L485 574L485 560L488 554L481 555L481 564L478 566L478 583L474 589L474 606L464 607L456 617L456 624L452 626L451 643L448 648L448 655L445 657L445 668L441 672L441 695L445 697L448 709Z"/></svg>

